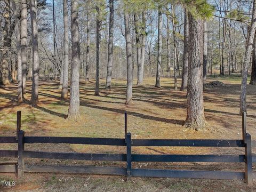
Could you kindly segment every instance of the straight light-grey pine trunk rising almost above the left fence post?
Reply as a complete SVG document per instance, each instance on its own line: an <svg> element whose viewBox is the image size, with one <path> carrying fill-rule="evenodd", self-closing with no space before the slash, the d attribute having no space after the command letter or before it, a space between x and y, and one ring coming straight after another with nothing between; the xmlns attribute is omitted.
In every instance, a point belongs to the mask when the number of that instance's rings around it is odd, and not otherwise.
<svg viewBox="0 0 256 192"><path fill-rule="evenodd" d="M20 19L20 46L21 46L21 65L22 65L22 96L26 94L27 81L27 0L20 0L21 19Z"/></svg>

